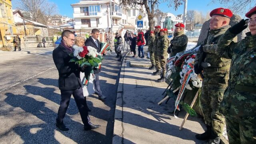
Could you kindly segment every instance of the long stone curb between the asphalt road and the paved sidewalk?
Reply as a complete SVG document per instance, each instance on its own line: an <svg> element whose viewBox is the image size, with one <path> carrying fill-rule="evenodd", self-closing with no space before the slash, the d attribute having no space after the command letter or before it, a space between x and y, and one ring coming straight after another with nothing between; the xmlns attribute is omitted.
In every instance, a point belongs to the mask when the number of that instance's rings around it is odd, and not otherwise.
<svg viewBox="0 0 256 144"><path fill-rule="evenodd" d="M128 52L124 55L122 61L122 67L120 70L120 77L117 88L116 95L116 108L114 114L114 134L112 139L112 144L123 144L124 143L124 127L123 127L123 84L124 84L124 69L126 67L126 57L128 56Z"/></svg>

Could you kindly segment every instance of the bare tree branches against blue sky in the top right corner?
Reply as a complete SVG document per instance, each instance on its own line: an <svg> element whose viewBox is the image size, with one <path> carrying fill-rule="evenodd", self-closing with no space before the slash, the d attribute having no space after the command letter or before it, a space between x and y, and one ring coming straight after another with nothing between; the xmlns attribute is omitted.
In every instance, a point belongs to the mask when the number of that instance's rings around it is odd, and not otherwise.
<svg viewBox="0 0 256 144"><path fill-rule="evenodd" d="M215 3L228 5L228 8L230 8L233 13L238 14L244 14L245 8L251 9L256 6L256 0L212 0L210 4Z"/></svg>

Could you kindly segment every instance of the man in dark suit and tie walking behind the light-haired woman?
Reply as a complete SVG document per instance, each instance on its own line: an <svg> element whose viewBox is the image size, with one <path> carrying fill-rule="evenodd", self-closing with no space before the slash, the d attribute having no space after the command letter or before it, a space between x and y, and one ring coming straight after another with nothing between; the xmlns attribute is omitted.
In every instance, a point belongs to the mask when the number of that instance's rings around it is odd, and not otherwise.
<svg viewBox="0 0 256 144"><path fill-rule="evenodd" d="M92 29L92 36L90 36L86 42L84 43L85 46L92 46L97 50L97 52L100 52L100 41L98 40L98 37L100 35L100 31L96 28ZM104 51L104 54L106 54L106 51ZM94 82L95 86L95 94L99 96L100 100L104 100L106 97L103 96L102 91L100 90L100 80L99 80L99 73L100 69L94 68L94 74L96 76Z"/></svg>

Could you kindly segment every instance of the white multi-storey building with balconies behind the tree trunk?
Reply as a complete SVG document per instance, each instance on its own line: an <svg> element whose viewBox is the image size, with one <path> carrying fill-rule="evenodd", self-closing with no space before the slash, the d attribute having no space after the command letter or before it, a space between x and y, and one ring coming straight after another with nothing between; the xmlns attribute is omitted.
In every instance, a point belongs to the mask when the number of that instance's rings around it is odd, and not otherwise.
<svg viewBox="0 0 256 144"><path fill-rule="evenodd" d="M74 9L75 30L91 32L93 28L101 32L123 32L126 30L135 31L137 28L138 14L144 16L143 30L149 28L146 11L138 8L128 8L121 6L119 0L112 0L112 12L110 10L110 0L80 0L76 4L71 4Z"/></svg>

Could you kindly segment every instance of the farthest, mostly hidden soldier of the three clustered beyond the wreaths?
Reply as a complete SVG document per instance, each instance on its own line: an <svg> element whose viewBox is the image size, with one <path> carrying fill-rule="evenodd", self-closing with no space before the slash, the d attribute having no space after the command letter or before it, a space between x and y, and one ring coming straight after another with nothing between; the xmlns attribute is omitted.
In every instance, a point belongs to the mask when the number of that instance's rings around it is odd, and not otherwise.
<svg viewBox="0 0 256 144"><path fill-rule="evenodd" d="M154 56L154 51L153 51L153 44L155 41L155 34L154 31L150 32L150 36L148 38L148 52L150 54L150 61L152 66L148 69L153 70L156 66L156 62L155 62L155 56Z"/></svg>

